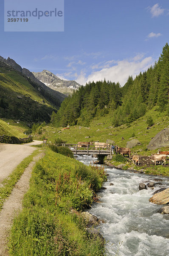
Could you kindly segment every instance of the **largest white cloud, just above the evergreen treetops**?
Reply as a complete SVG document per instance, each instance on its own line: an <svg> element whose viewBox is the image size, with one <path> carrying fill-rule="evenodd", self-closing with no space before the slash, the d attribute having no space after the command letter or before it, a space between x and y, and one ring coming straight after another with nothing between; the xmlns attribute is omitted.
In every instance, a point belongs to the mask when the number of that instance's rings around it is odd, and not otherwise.
<svg viewBox="0 0 169 256"><path fill-rule="evenodd" d="M140 59L141 56L136 55L132 60L116 61L113 67L103 68L99 71L93 72L88 76L87 81L99 81L99 80L111 80L112 82L118 82L123 86L129 76L133 78L141 71L143 72L149 66L153 64L152 57L146 57Z"/></svg>

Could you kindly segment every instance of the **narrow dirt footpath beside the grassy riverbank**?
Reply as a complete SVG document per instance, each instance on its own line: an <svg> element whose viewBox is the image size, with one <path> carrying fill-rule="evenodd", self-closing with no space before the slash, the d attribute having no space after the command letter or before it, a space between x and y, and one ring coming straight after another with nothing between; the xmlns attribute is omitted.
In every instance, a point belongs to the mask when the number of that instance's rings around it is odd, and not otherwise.
<svg viewBox="0 0 169 256"><path fill-rule="evenodd" d="M31 147L30 147L31 148ZM11 224L16 212L22 209L22 200L24 194L29 188L29 180L31 177L31 171L39 158L42 158L44 152L41 152L25 169L25 172L21 176L20 180L15 184L11 195L8 197L6 202L3 204L3 209L0 212L0 256L9 256L8 250L6 249L8 243L8 235L10 232Z"/></svg>

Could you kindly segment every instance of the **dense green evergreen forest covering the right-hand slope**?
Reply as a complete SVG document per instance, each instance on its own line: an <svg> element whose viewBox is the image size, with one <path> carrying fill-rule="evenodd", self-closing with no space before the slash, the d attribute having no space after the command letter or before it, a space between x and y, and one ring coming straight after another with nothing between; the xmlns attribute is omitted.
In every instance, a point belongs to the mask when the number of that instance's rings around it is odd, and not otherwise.
<svg viewBox="0 0 169 256"><path fill-rule="evenodd" d="M89 125L95 116L110 115L112 124L131 123L157 105L169 110L169 45L163 47L154 66L135 79L129 76L124 87L111 81L89 82L62 102L52 114L53 125ZM168 111L169 114L169 111Z"/></svg>

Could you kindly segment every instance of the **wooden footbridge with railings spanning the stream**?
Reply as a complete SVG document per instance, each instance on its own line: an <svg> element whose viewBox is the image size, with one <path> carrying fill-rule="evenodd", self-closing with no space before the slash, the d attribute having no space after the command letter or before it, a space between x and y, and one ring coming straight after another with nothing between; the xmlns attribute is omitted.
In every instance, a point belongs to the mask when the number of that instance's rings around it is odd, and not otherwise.
<svg viewBox="0 0 169 256"><path fill-rule="evenodd" d="M82 146L80 149L78 148L78 144L68 144L62 143L63 147L70 148L73 154L103 154L103 155L111 155L111 146L107 146L106 150L103 150L103 145L97 145L99 150L95 149L95 145L87 145Z"/></svg>

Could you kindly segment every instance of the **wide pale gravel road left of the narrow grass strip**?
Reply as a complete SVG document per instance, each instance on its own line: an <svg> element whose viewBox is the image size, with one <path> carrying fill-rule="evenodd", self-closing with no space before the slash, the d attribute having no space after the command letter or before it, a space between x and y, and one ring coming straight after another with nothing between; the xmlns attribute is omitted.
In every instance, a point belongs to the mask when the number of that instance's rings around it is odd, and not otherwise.
<svg viewBox="0 0 169 256"><path fill-rule="evenodd" d="M30 145L41 143L42 141L39 140L22 145L0 143L0 183L8 177L25 157L28 157L36 150L36 148L30 147Z"/></svg>

